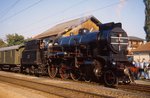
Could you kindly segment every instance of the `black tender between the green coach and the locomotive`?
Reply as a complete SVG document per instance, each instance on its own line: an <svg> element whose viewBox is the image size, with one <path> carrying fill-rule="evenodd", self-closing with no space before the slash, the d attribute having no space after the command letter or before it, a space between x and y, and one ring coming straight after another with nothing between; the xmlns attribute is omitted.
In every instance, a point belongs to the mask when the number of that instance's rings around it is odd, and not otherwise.
<svg viewBox="0 0 150 98"><path fill-rule="evenodd" d="M27 73L39 73L46 66L46 48L42 40L31 40L25 43L22 52L22 67ZM36 72L34 72L36 70Z"/></svg>

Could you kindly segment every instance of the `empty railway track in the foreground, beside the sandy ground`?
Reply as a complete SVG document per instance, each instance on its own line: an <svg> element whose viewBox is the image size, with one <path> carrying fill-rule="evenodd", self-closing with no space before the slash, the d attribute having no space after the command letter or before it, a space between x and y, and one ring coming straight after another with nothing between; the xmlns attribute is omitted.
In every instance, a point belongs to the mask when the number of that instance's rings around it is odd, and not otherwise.
<svg viewBox="0 0 150 98"><path fill-rule="evenodd" d="M64 97L64 98L75 98L75 97L78 97L78 98L85 98L85 97L86 98L111 98L109 96L100 95L96 93L69 89L69 88L64 88L64 87L60 87L56 85L48 85L48 84L44 84L40 82L29 81L25 79L19 79L15 77L4 76L4 75L0 75L0 81L20 85L23 87L50 93L50 94L57 95L57 96Z"/></svg>

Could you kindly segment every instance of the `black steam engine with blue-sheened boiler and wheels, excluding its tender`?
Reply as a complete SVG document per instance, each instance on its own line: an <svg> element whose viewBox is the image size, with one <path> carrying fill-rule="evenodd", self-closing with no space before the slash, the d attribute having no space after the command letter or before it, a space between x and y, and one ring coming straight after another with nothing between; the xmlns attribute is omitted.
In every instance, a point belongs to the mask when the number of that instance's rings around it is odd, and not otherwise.
<svg viewBox="0 0 150 98"><path fill-rule="evenodd" d="M107 86L117 85L126 76L128 36L121 23L101 24L99 28L97 32L83 28L78 35L58 38L57 46L49 48L50 77L59 69L63 79L96 78Z"/></svg>

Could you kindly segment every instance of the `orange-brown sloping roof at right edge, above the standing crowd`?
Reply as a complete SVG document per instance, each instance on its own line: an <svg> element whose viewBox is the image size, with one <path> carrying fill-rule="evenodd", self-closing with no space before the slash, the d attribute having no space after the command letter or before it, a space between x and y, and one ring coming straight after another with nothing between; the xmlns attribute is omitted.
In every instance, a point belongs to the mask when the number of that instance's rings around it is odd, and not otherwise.
<svg viewBox="0 0 150 98"><path fill-rule="evenodd" d="M140 45L137 49L133 49L132 52L150 52L150 42Z"/></svg>

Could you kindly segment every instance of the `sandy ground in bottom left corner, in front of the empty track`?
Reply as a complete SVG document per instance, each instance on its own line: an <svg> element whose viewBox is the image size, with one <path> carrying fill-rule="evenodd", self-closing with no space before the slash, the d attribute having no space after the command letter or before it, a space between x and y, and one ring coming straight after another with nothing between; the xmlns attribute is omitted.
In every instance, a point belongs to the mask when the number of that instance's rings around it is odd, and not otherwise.
<svg viewBox="0 0 150 98"><path fill-rule="evenodd" d="M0 81L0 98L61 98L61 97Z"/></svg>

